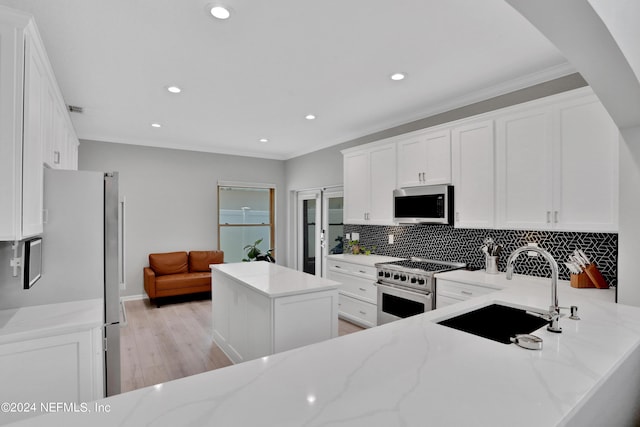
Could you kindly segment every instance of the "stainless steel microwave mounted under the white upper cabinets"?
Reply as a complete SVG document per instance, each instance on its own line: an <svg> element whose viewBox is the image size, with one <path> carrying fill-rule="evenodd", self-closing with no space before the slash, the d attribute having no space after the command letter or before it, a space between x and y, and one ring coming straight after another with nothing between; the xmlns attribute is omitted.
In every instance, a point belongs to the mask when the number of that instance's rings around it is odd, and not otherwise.
<svg viewBox="0 0 640 427"><path fill-rule="evenodd" d="M394 190L393 220L400 224L453 224L453 185Z"/></svg>

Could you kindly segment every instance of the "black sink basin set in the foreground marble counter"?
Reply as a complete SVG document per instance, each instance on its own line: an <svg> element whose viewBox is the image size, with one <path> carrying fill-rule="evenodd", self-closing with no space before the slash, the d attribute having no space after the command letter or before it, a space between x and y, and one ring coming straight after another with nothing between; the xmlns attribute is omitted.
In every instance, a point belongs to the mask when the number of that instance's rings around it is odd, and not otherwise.
<svg viewBox="0 0 640 427"><path fill-rule="evenodd" d="M517 334L530 334L548 322L519 308L492 304L443 320L438 324L510 344L511 337Z"/></svg>

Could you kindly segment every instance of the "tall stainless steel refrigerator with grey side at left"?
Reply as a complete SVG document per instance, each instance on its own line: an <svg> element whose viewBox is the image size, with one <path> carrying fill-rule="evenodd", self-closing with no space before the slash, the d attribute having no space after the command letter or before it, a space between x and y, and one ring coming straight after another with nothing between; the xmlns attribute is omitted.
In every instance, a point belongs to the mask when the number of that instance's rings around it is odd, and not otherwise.
<svg viewBox="0 0 640 427"><path fill-rule="evenodd" d="M51 302L104 300L105 395L120 393L118 174L45 169L43 276Z"/></svg>

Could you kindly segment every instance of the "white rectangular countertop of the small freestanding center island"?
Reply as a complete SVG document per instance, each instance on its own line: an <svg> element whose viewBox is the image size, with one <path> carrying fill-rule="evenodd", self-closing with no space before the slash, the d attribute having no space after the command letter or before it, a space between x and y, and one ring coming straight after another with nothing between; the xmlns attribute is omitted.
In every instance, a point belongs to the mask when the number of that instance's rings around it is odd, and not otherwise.
<svg viewBox="0 0 640 427"><path fill-rule="evenodd" d="M211 264L210 267L212 272L220 272L270 298L337 289L340 286L333 280L264 261Z"/></svg>

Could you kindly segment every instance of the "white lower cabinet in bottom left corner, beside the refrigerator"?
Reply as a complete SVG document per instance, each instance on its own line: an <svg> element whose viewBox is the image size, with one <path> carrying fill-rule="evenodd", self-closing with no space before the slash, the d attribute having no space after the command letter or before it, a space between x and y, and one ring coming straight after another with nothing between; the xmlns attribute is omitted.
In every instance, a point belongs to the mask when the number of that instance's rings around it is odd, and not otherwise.
<svg viewBox="0 0 640 427"><path fill-rule="evenodd" d="M42 414L41 405L103 398L103 366L102 328L0 345L0 401L35 405L3 411L0 424Z"/></svg>

